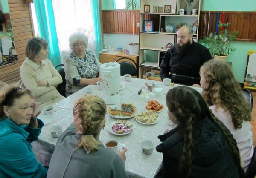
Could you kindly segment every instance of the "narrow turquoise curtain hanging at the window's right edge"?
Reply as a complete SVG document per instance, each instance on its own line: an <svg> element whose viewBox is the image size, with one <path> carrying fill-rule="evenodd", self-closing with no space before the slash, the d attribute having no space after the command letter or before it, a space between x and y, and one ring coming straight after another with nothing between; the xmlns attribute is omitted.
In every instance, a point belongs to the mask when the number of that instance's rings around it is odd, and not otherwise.
<svg viewBox="0 0 256 178"><path fill-rule="evenodd" d="M92 8L92 14L93 14L93 28L94 28L95 43L96 43L95 55L99 59L99 51L103 49L100 18L99 18L99 0L91 0L91 6L92 6L91 8Z"/></svg>

